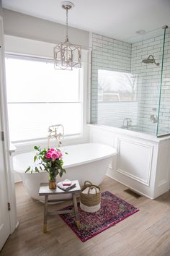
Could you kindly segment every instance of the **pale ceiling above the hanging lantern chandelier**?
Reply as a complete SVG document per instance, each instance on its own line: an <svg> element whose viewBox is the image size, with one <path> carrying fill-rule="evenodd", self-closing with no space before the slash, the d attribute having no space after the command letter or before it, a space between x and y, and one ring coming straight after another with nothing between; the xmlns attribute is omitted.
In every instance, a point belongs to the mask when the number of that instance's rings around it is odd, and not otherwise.
<svg viewBox="0 0 170 256"><path fill-rule="evenodd" d="M170 26L170 0L71 0L68 25L119 40L136 31ZM2 7L44 20L66 23L62 0L2 0Z"/></svg>

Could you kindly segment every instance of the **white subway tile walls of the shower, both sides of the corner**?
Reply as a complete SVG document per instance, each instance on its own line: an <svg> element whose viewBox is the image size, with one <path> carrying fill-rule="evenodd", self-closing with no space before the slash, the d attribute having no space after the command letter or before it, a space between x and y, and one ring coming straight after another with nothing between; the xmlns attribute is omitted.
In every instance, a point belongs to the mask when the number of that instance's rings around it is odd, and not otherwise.
<svg viewBox="0 0 170 256"><path fill-rule="evenodd" d="M164 32L164 31L163 31ZM158 134L170 132L170 34L166 34L164 72ZM134 129L156 135L163 35L125 43L92 34L91 122L121 127L123 119L133 119ZM160 65L143 64L142 59L152 54ZM138 103L98 103L98 69L131 72L138 75ZM114 105L114 106L112 106ZM113 111L114 109L114 111Z"/></svg>

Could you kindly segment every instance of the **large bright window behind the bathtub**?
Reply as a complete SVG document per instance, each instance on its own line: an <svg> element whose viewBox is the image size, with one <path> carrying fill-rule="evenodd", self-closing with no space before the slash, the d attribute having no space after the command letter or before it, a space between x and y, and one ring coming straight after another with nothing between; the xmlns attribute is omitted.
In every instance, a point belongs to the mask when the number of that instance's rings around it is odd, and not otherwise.
<svg viewBox="0 0 170 256"><path fill-rule="evenodd" d="M6 88L12 142L45 138L53 124L63 124L65 135L81 133L80 69L6 55Z"/></svg>

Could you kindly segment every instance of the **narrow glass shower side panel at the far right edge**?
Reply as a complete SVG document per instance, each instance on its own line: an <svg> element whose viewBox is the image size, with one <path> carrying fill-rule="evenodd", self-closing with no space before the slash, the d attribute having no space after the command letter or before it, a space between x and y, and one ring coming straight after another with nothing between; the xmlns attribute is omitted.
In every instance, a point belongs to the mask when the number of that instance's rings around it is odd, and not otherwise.
<svg viewBox="0 0 170 256"><path fill-rule="evenodd" d="M164 29L157 137L170 134L170 29Z"/></svg>

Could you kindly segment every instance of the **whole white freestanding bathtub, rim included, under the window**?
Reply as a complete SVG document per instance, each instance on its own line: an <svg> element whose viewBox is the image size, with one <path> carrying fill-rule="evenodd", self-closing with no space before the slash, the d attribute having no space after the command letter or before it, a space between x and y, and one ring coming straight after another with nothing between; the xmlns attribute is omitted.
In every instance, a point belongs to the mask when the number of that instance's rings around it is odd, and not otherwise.
<svg viewBox="0 0 170 256"><path fill-rule="evenodd" d="M63 168L66 168L66 174L63 174L62 178L57 176L57 182L64 179L78 179L81 185L86 180L99 185L104 179L113 155L117 154L115 148L98 143L71 145L60 149L62 152L67 152L68 155L63 153ZM43 200L38 195L38 191L41 182L48 182L48 173L46 171L32 174L24 173L28 166L35 166L34 156L35 151L15 155L13 167L14 171L17 171L21 176L24 188L30 197ZM51 197L54 198L55 196Z"/></svg>

